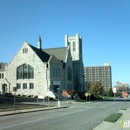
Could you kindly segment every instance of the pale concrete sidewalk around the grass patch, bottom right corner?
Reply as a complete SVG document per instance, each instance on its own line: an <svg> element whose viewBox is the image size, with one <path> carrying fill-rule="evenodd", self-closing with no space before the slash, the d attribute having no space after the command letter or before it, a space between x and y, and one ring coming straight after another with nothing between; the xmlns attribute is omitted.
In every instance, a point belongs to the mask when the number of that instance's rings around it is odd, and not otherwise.
<svg viewBox="0 0 130 130"><path fill-rule="evenodd" d="M123 113L123 115L118 119L116 123L110 123L103 121L101 124L99 124L97 127L95 127L93 130L125 130L130 129L130 123L128 123L128 128L125 128L125 126L121 128L121 121L124 119L125 122L128 122L130 120L130 109L128 110L120 110L118 113Z"/></svg>

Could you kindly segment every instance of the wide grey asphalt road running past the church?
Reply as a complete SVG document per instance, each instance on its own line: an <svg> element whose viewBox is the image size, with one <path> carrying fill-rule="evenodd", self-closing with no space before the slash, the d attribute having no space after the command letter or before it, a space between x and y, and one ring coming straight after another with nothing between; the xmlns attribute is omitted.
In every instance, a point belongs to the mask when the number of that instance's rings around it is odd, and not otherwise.
<svg viewBox="0 0 130 130"><path fill-rule="evenodd" d="M115 102L70 104L69 108L0 117L0 130L92 130L115 112ZM117 109L124 108L117 102ZM126 103L130 108L130 102Z"/></svg>

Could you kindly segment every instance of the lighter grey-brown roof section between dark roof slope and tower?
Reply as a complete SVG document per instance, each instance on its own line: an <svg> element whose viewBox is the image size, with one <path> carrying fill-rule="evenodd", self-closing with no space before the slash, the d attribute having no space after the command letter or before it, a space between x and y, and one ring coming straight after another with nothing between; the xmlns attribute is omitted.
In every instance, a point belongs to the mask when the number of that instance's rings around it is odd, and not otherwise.
<svg viewBox="0 0 130 130"><path fill-rule="evenodd" d="M65 61L67 54L67 47L43 49L44 52L54 55L60 61Z"/></svg>

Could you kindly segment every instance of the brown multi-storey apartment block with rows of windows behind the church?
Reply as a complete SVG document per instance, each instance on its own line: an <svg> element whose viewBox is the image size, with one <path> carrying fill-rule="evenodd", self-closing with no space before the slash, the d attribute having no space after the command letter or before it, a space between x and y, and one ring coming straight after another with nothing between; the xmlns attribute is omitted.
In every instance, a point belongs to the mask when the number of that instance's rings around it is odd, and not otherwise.
<svg viewBox="0 0 130 130"><path fill-rule="evenodd" d="M104 91L108 92L112 87L111 66L104 63L104 66L84 67L85 84L92 84L99 81L104 86Z"/></svg>

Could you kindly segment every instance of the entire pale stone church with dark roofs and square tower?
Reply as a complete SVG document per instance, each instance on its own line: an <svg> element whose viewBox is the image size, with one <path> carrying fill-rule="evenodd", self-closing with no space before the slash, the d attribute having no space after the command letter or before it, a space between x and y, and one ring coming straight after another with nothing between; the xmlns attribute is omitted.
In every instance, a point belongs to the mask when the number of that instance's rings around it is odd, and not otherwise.
<svg viewBox="0 0 130 130"><path fill-rule="evenodd" d="M0 62L0 92L55 97L62 90L84 90L82 38L65 36L65 47L42 49L24 42L9 64Z"/></svg>

